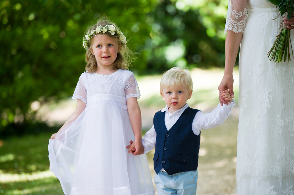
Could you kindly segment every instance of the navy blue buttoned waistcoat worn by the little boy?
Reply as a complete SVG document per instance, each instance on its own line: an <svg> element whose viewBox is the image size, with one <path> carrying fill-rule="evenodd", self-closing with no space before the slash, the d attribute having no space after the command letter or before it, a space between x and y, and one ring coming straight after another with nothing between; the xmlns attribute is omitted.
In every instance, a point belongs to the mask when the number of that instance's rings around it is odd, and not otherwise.
<svg viewBox="0 0 294 195"><path fill-rule="evenodd" d="M168 175L197 170L200 134L194 134L192 122L198 111L188 107L169 131L164 122L165 112L156 112L153 118L156 132L153 161L156 174L162 168Z"/></svg>

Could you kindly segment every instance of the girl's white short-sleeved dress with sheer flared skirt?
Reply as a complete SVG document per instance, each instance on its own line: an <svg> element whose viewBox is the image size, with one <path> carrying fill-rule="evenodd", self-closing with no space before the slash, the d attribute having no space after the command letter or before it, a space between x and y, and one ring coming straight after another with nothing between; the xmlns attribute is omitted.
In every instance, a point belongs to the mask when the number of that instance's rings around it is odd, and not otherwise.
<svg viewBox="0 0 294 195"><path fill-rule="evenodd" d="M83 73L73 98L85 110L49 140L50 170L65 195L153 195L146 155L129 154L134 140L126 99L139 97L128 70L110 75Z"/></svg>

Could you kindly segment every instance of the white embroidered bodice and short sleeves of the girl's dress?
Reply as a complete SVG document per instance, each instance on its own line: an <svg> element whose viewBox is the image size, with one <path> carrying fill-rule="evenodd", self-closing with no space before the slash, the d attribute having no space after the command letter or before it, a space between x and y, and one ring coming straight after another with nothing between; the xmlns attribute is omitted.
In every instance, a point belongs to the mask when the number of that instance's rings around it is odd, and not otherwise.
<svg viewBox="0 0 294 195"><path fill-rule="evenodd" d="M81 99L89 106L115 103L126 108L126 99L140 97L134 74L129 70L117 70L109 75L84 72L74 91L73 99Z"/></svg>

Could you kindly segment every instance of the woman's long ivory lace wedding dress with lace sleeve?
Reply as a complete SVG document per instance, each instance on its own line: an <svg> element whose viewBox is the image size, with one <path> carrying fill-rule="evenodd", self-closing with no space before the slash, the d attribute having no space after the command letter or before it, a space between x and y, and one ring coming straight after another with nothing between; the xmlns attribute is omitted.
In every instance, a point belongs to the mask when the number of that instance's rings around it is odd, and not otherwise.
<svg viewBox="0 0 294 195"><path fill-rule="evenodd" d="M229 0L225 31L243 33L239 55L238 195L294 194L294 59L292 54L292 61L285 63L267 58L280 32L283 17L272 20L279 13L266 0ZM294 30L290 33L294 50Z"/></svg>

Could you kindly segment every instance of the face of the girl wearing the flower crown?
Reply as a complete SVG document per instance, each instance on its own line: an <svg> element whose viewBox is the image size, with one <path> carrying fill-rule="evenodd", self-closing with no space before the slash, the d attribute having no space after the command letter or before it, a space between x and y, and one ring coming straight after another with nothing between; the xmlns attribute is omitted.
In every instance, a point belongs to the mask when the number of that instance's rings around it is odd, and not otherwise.
<svg viewBox="0 0 294 195"><path fill-rule="evenodd" d="M118 40L105 34L96 34L92 39L91 52L96 58L97 68L112 70L113 63L121 47Z"/></svg>

